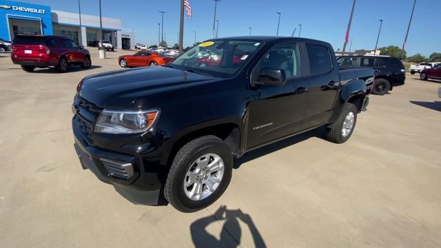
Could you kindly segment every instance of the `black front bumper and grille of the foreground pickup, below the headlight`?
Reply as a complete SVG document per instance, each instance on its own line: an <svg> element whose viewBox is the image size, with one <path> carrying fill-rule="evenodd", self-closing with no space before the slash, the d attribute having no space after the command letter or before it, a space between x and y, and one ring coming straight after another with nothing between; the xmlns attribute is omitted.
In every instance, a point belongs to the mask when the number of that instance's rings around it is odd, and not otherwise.
<svg viewBox="0 0 441 248"><path fill-rule="evenodd" d="M79 114L72 118L74 149L83 169L90 169L99 180L114 185L116 192L132 203L161 204L163 183L160 172L164 167L152 161L149 154L136 154L136 152L130 154L130 151L122 153L109 149L118 146L115 145L118 141L114 136L107 138L106 141L101 137L100 141L91 132L93 128L88 125L92 124L81 118ZM107 143L109 146L100 147L101 143Z"/></svg>

